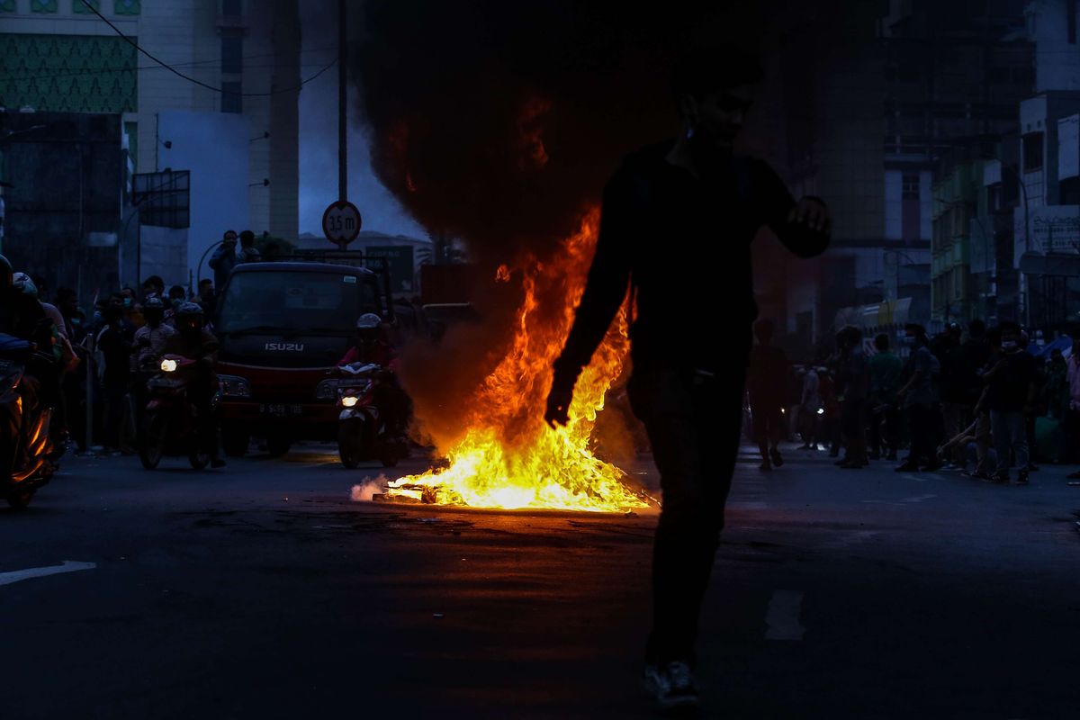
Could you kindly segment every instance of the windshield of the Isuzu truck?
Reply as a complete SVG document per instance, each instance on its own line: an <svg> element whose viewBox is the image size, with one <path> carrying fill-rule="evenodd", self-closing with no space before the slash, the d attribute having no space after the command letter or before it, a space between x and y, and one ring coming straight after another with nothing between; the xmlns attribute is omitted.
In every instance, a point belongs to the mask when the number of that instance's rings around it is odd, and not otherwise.
<svg viewBox="0 0 1080 720"><path fill-rule="evenodd" d="M362 314L379 312L375 283L349 273L234 273L219 302L221 334L350 334Z"/></svg>

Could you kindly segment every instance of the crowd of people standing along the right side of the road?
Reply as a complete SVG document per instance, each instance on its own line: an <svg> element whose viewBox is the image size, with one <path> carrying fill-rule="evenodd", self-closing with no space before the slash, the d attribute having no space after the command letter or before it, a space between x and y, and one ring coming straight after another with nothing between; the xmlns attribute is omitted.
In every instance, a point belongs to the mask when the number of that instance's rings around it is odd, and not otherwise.
<svg viewBox="0 0 1080 720"><path fill-rule="evenodd" d="M827 358L792 367L769 321L755 334L747 396L762 471L783 463L782 437L827 450L846 470L883 459L897 472L950 470L999 484L1011 471L1027 484L1040 458L1080 462L1080 339L1044 353L1013 322L950 323L933 338L908 324L897 353L889 335L867 342L848 326Z"/></svg>

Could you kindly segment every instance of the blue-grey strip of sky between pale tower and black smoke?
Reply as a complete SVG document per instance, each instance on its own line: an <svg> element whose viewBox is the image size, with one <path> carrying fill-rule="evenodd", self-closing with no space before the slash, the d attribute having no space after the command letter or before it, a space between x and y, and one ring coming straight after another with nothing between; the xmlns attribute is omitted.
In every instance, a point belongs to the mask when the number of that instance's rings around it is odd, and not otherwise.
<svg viewBox="0 0 1080 720"><path fill-rule="evenodd" d="M328 21L336 3L301 2L303 32L301 77L310 77L337 53L337 36ZM325 6L320 6L325 5ZM350 3L359 14L359 3ZM352 83L350 83L352 85ZM356 90L349 104L349 199L360 208L365 230L427 237L401 204L375 177L368 141L356 117ZM337 70L324 72L300 92L300 232L322 235L323 210L337 200Z"/></svg>

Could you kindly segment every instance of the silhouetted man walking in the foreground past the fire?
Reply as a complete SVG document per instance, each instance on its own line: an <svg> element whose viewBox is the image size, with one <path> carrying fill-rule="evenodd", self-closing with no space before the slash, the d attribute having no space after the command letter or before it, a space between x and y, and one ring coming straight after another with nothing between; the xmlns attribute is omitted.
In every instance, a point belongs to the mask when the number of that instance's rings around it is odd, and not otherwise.
<svg viewBox="0 0 1080 720"><path fill-rule="evenodd" d="M677 65L679 135L626 158L605 189L596 255L544 415L552 425L568 421L578 375L629 287L637 308L631 402L663 489L645 681L665 708L698 704L698 615L742 419L743 372L730 368L745 367L757 314L750 243L768 225L800 257L828 244L821 200L796 203L765 162L732 150L760 79L757 59L731 49L694 53ZM658 252L658 243L678 243L684 252ZM687 307L716 312L702 323Z"/></svg>

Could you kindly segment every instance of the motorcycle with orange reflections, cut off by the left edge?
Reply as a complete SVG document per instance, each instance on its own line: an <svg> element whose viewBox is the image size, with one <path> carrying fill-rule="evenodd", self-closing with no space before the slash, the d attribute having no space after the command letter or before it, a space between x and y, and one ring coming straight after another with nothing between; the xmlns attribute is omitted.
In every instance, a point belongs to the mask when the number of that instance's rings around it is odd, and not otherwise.
<svg viewBox="0 0 1080 720"><path fill-rule="evenodd" d="M52 408L24 407L26 365L35 361L52 358L31 342L0 334L0 494L15 510L29 505L49 484L60 454L49 433Z"/></svg>

